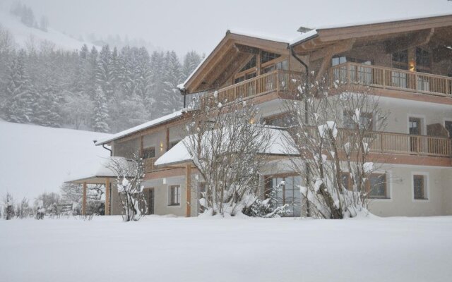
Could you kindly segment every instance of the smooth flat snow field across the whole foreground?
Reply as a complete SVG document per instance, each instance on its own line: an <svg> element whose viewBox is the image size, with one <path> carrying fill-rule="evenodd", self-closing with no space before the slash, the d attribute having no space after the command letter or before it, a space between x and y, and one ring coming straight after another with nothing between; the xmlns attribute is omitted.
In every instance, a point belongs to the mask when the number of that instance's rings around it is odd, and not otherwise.
<svg viewBox="0 0 452 282"><path fill-rule="evenodd" d="M0 221L1 281L451 281L452 217Z"/></svg>

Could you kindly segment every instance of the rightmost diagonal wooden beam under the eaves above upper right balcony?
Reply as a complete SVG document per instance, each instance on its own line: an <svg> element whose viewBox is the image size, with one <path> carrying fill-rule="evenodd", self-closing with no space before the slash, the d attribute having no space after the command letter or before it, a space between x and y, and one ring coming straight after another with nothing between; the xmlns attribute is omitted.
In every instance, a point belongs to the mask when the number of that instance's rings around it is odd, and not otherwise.
<svg viewBox="0 0 452 282"><path fill-rule="evenodd" d="M386 42L386 53L392 54L397 51L414 48L429 43L435 29L422 30L415 34L397 37L391 41Z"/></svg>

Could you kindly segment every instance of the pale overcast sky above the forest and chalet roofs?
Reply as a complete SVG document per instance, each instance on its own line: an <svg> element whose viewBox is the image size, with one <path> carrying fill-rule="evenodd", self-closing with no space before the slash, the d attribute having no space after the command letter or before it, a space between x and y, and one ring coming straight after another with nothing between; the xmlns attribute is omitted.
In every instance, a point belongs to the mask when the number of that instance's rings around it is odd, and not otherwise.
<svg viewBox="0 0 452 282"><path fill-rule="evenodd" d="M3 3L1 3L3 2ZM0 0L9 7L11 0ZM128 35L179 54L210 52L227 29L273 37L319 27L452 13L448 0L22 0L55 30L71 35Z"/></svg>

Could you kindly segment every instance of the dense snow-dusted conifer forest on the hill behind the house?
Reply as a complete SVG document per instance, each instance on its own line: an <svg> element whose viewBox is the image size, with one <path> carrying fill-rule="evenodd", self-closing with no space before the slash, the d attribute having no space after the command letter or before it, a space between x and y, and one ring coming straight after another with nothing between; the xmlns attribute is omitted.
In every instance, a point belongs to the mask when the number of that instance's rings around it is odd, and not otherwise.
<svg viewBox="0 0 452 282"><path fill-rule="evenodd" d="M183 106L176 86L201 62L189 51L144 47L64 51L52 42L16 48L0 26L0 118L15 123L114 133Z"/></svg>

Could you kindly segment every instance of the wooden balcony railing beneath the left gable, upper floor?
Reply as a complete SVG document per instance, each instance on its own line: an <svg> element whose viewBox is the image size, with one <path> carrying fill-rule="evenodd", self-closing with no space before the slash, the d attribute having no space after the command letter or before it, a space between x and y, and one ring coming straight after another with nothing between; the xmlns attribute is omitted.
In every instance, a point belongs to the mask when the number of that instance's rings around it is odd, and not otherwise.
<svg viewBox="0 0 452 282"><path fill-rule="evenodd" d="M227 104L237 102L249 97L256 97L270 92L292 92L300 84L301 73L293 71L276 70L270 73L250 78L242 82L210 92L201 97L201 107L216 106L213 103ZM216 95L216 99L213 96Z"/></svg>

